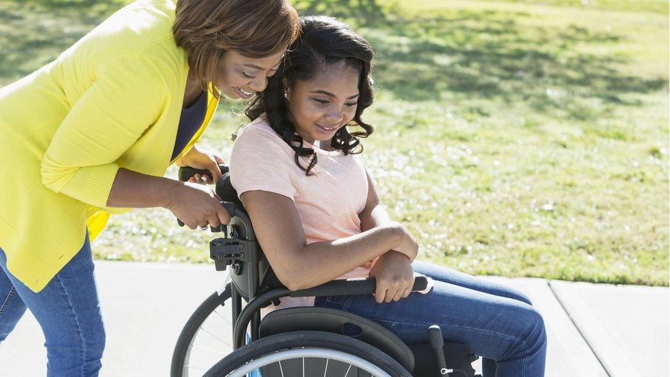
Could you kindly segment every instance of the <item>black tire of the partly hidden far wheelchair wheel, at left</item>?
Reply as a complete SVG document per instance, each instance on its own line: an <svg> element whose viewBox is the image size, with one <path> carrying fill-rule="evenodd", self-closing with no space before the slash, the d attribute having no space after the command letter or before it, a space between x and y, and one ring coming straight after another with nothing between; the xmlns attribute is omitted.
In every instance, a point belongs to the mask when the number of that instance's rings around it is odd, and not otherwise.
<svg viewBox="0 0 670 377"><path fill-rule="evenodd" d="M209 317L209 315L211 315L211 313L219 306L224 306L225 302L228 301L230 297L231 284L229 283L220 295L215 292L207 297L207 299L205 299L205 301L203 301L203 303L193 312L191 317L189 317L184 328L181 330L181 334L179 334L177 343L174 346L174 352L172 352L172 363L170 365L171 377L185 377L189 375L184 367L187 365L187 358L189 357L192 341L194 340L198 329L200 329L200 326L203 325L207 317Z"/></svg>

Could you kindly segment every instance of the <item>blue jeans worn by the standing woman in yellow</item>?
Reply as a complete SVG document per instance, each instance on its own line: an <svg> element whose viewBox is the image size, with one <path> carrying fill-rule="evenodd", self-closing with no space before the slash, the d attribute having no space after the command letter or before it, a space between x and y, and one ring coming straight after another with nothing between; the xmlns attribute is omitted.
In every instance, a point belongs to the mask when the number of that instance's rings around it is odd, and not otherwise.
<svg viewBox="0 0 670 377"><path fill-rule="evenodd" d="M0 249L0 343L29 308L46 339L47 376L97 376L105 332L93 269L86 236L82 249L34 293L7 270Z"/></svg>

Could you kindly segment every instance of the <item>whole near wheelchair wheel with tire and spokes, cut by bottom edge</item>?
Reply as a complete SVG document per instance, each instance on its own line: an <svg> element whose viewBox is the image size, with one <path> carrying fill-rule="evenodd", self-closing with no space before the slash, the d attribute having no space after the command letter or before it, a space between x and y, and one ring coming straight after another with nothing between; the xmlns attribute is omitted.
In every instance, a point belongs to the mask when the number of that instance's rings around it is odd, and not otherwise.
<svg viewBox="0 0 670 377"><path fill-rule="evenodd" d="M386 376L411 377L376 347L330 332L298 331L259 339L229 354L205 376L263 377Z"/></svg>

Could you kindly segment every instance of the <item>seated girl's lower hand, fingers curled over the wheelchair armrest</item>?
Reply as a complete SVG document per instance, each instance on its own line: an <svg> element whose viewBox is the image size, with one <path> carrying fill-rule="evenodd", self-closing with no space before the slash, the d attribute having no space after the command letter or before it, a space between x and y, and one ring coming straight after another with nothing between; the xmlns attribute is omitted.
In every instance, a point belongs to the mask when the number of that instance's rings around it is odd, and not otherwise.
<svg viewBox="0 0 670 377"><path fill-rule="evenodd" d="M369 273L377 280L375 300L378 303L404 299L414 286L414 270L409 259L398 251L380 256Z"/></svg>

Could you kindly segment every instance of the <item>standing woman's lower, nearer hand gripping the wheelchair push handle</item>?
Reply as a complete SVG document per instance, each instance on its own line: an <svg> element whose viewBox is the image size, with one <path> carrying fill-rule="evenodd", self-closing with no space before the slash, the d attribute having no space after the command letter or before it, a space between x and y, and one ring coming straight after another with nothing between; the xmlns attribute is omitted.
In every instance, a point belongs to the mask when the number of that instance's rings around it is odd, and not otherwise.
<svg viewBox="0 0 670 377"><path fill-rule="evenodd" d="M184 182L176 186L165 208L191 228L218 227L230 222L230 214L221 205L221 198L211 188Z"/></svg>

